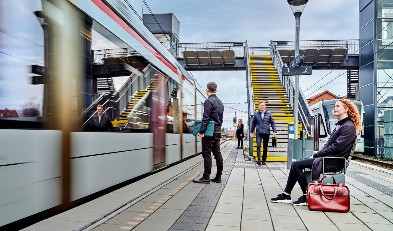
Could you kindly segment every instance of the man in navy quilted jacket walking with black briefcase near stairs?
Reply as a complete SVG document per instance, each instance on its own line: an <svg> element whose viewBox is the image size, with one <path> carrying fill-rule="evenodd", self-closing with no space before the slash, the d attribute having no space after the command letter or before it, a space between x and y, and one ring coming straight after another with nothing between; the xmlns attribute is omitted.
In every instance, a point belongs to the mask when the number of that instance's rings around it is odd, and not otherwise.
<svg viewBox="0 0 393 231"><path fill-rule="evenodd" d="M273 136L277 133L277 129L275 128L274 118L272 113L266 110L266 102L261 100L259 102L259 111L255 113L254 118L252 118L251 124L251 133L250 137L254 136L254 129L257 135L257 155L258 155L258 164L261 164L261 142L263 140L263 156L262 156L262 164L266 165L266 157L268 155L268 143L270 138L270 126L273 128Z"/></svg>

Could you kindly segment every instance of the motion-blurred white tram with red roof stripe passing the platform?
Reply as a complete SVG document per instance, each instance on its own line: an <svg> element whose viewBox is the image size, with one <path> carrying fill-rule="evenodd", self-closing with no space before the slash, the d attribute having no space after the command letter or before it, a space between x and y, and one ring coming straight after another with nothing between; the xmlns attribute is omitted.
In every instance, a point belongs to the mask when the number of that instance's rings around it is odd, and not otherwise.
<svg viewBox="0 0 393 231"><path fill-rule="evenodd" d="M202 151L192 131L205 88L125 1L42 2L26 19L38 25L44 47L43 81L34 83L42 87L42 113L0 118L0 227L64 211ZM97 105L113 132L90 129Z"/></svg>

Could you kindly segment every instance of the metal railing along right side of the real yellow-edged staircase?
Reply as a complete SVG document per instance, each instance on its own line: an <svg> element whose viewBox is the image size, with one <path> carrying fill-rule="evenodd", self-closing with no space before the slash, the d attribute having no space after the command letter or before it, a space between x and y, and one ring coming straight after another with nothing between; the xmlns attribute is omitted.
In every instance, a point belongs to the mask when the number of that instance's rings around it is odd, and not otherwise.
<svg viewBox="0 0 393 231"><path fill-rule="evenodd" d="M272 56L272 61L274 67L277 69L278 75L281 80L281 85L285 87L286 92L289 97L289 102L292 105L292 108L295 106L294 105L294 94L295 93L295 82L292 78L292 76L283 76L283 67L286 67L287 65L283 63L283 60L281 60L281 56L279 52L275 49L274 42L270 40L270 55ZM299 120L301 121L301 124L303 126L303 129L306 131L307 136L311 137L313 136L314 133L314 126L313 126L313 120L314 120L314 115L312 113L312 110L310 108L310 105L307 102L306 96L303 94L303 91L299 87Z"/></svg>

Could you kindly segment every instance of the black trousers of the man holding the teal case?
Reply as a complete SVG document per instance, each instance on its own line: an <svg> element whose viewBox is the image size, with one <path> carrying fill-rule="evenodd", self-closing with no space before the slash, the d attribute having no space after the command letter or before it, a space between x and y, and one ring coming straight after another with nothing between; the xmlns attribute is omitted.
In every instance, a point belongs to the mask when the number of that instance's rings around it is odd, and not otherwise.
<svg viewBox="0 0 393 231"><path fill-rule="evenodd" d="M205 166L205 172L203 173L204 179L210 179L212 152L214 158L216 159L216 164L217 164L216 176L222 175L222 169L224 167L224 164L222 161L222 155L220 151L220 139L221 139L221 133L213 133L212 137L202 138L202 157Z"/></svg>

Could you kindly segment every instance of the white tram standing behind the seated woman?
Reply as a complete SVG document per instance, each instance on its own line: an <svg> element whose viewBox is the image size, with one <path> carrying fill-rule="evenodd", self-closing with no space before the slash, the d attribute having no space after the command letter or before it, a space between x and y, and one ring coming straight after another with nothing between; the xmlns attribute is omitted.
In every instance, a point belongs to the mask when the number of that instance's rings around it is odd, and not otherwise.
<svg viewBox="0 0 393 231"><path fill-rule="evenodd" d="M360 113L362 126L360 127L360 134L356 137L358 144L356 144L355 152L364 152L364 126L363 126L363 103L360 100L351 100ZM332 131L337 123L336 116L333 115L334 104L337 100L323 100L317 104L311 105L311 110L314 113L314 150L320 150L329 140Z"/></svg>

